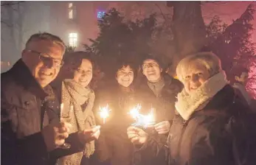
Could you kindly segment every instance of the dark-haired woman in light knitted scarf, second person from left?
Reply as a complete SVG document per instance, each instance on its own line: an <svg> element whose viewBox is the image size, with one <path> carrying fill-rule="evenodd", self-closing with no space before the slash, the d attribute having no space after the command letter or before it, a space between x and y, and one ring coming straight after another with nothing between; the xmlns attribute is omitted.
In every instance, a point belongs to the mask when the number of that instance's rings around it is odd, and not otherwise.
<svg viewBox="0 0 256 165"><path fill-rule="evenodd" d="M63 112L60 114L69 115L69 124L72 124L69 133L74 133L96 126L94 113L92 112L95 95L90 88L94 63L91 55L86 52L74 52L70 56L73 58L71 61L67 61L66 65L69 65L70 69L72 69L73 78L63 80L61 88L57 91L59 99L63 103ZM62 117L60 116L60 118ZM97 127L95 129L98 129ZM99 136L100 130L92 135L94 139ZM83 162L83 164L89 164L89 157L94 153L94 150L94 141L89 141L86 143L83 152L59 158L58 164L80 165L83 155L83 161L88 162Z"/></svg>

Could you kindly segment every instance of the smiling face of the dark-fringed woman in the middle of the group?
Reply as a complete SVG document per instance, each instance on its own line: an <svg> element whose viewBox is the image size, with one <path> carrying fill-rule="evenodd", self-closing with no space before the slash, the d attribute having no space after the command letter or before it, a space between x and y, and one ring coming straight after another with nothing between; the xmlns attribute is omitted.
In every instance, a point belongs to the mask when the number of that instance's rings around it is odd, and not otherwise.
<svg viewBox="0 0 256 165"><path fill-rule="evenodd" d="M122 66L122 69L117 71L117 82L124 86L128 87L131 85L131 82L134 81L134 71L130 66Z"/></svg>

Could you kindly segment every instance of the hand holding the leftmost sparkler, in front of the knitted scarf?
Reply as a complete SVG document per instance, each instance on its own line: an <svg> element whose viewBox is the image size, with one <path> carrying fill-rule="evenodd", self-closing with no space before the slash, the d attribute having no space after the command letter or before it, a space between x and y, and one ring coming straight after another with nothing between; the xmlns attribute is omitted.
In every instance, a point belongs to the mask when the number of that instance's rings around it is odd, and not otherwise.
<svg viewBox="0 0 256 165"><path fill-rule="evenodd" d="M83 144L98 139L100 136L100 125L78 132L78 137Z"/></svg>

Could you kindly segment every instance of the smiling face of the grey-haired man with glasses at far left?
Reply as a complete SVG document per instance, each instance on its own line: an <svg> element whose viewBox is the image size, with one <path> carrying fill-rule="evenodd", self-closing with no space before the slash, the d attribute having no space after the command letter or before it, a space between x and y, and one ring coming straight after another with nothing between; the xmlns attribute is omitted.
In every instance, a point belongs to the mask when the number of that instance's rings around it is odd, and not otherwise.
<svg viewBox="0 0 256 165"><path fill-rule="evenodd" d="M31 41L22 52L22 60L42 88L55 80L62 58L63 47L48 40Z"/></svg>

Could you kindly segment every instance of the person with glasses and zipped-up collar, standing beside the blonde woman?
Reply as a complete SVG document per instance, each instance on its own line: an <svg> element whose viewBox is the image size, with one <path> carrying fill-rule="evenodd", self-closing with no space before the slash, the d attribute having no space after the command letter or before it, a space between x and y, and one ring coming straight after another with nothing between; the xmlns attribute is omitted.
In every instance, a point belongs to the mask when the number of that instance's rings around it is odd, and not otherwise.
<svg viewBox="0 0 256 165"><path fill-rule="evenodd" d="M145 80L137 87L138 94L144 98L144 102L151 103L152 108L156 109L153 129L156 130L156 141L167 141L167 135L175 115L175 102L177 94L182 90L183 85L179 80L170 77L163 71L162 61L146 55L142 61L142 74ZM142 158L139 152L135 152L134 161L136 164L165 164L165 160L156 160L151 158ZM143 160L143 162L139 162Z"/></svg>

